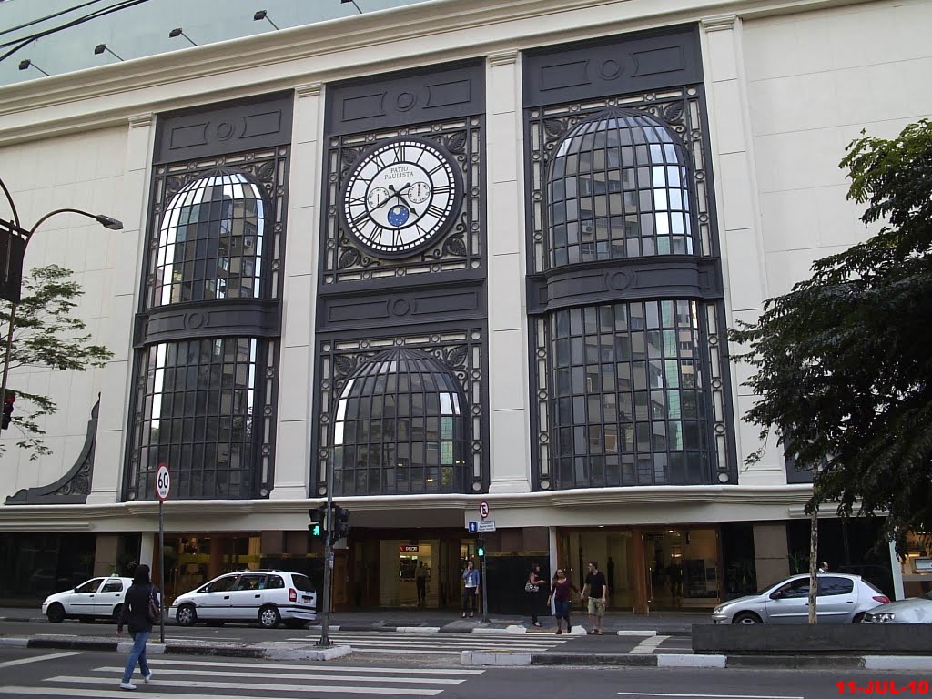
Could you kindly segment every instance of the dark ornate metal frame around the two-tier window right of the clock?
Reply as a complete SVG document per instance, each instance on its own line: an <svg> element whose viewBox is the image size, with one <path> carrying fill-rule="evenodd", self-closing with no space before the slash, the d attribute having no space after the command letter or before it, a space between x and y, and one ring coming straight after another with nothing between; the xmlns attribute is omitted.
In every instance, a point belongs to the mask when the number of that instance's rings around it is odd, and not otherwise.
<svg viewBox="0 0 932 699"><path fill-rule="evenodd" d="M552 267L548 247L550 220L547 200L550 162L562 139L578 125L611 109L642 111L681 139L688 155L693 254L626 257ZM698 302L706 356L706 443L714 445L705 473L695 485L737 482L727 343L721 321L725 317L720 285L719 243L715 235L715 208L706 176L709 144L706 135L705 98L701 85L668 87L637 94L610 95L525 109L528 217L528 310L530 365L532 368L532 454L536 490L559 487L555 482L554 403L551 385L550 322L557 308L602 305L637 300L690 300ZM702 346L705 345L705 346ZM536 438L536 439L535 439ZM691 485L693 481L690 482ZM592 479L575 487L598 487ZM606 484L608 485L608 484ZM624 482L619 485L628 485Z"/></svg>

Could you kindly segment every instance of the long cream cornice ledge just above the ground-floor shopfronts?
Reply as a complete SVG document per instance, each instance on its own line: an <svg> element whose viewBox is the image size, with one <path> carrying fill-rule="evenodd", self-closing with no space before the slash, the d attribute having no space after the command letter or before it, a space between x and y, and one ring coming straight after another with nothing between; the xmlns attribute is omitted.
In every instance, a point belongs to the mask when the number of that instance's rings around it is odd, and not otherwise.
<svg viewBox="0 0 932 699"><path fill-rule="evenodd" d="M558 510L617 508L635 505L696 505L787 508L799 516L811 495L811 486L659 486L613 487L555 490L535 493L487 493L483 495L409 495L340 498L340 504L356 512L405 510L447 510L466 512L487 501L493 510L521 510L552 507ZM234 521L246 515L306 515L314 500L169 500L165 516L197 515L201 520ZM825 508L829 515L829 508ZM6 505L0 507L0 531L107 531L115 520L132 519L151 528L158 521L158 501L117 502L106 505Z"/></svg>

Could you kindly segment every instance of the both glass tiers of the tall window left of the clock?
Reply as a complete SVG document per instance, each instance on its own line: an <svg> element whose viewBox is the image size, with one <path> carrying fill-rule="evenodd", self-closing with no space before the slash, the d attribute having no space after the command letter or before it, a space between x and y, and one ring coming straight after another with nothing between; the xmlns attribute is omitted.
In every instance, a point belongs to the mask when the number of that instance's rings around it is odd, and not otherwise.
<svg viewBox="0 0 932 699"><path fill-rule="evenodd" d="M203 329L227 300L268 296L263 256L269 213L263 188L250 175L225 169L188 183L164 208L151 248L145 308L184 304L178 318L195 337L157 341L142 352L129 500L153 497L159 463L171 469L173 497L259 494L268 341L235 326L225 336L204 337Z"/></svg>

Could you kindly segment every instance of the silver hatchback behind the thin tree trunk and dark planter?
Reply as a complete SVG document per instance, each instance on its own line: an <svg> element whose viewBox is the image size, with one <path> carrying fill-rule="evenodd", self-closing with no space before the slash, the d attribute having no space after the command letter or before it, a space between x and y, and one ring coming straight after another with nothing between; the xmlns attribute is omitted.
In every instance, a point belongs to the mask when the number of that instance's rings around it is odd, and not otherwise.
<svg viewBox="0 0 932 699"><path fill-rule="evenodd" d="M818 576L819 624L860 624L868 610L889 598L859 575ZM712 610L715 624L808 624L809 576L794 575L768 585L757 595L730 599Z"/></svg>

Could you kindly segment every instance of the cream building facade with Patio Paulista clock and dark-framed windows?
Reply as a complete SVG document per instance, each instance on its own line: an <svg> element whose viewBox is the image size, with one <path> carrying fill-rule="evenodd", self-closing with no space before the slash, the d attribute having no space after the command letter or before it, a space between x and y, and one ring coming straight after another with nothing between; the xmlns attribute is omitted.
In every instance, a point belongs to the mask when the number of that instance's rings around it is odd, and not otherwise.
<svg viewBox="0 0 932 699"><path fill-rule="evenodd" d="M481 502L491 610L532 561L595 559L637 612L800 568L810 487L773 436L746 462L727 330L868 235L837 163L932 112L932 7L664 6L436 0L0 88L21 217L126 226L30 244L115 357L10 375L60 412L48 458L4 435L0 597L138 560L169 596L320 579L328 496L336 609L417 604L418 562L457 605ZM830 514L833 569L925 581Z"/></svg>

